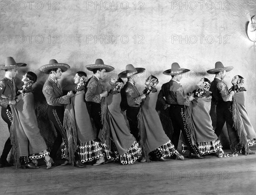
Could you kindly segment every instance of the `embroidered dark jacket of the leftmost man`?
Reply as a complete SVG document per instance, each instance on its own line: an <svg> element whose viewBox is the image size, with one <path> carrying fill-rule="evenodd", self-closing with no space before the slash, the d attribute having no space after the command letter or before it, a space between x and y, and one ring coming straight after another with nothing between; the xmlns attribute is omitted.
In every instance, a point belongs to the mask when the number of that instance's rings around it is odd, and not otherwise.
<svg viewBox="0 0 256 195"><path fill-rule="evenodd" d="M12 100L15 96L16 94L14 94L13 91L12 80L4 77L2 80L0 80L0 106L6 108L9 105L9 100Z"/></svg>

